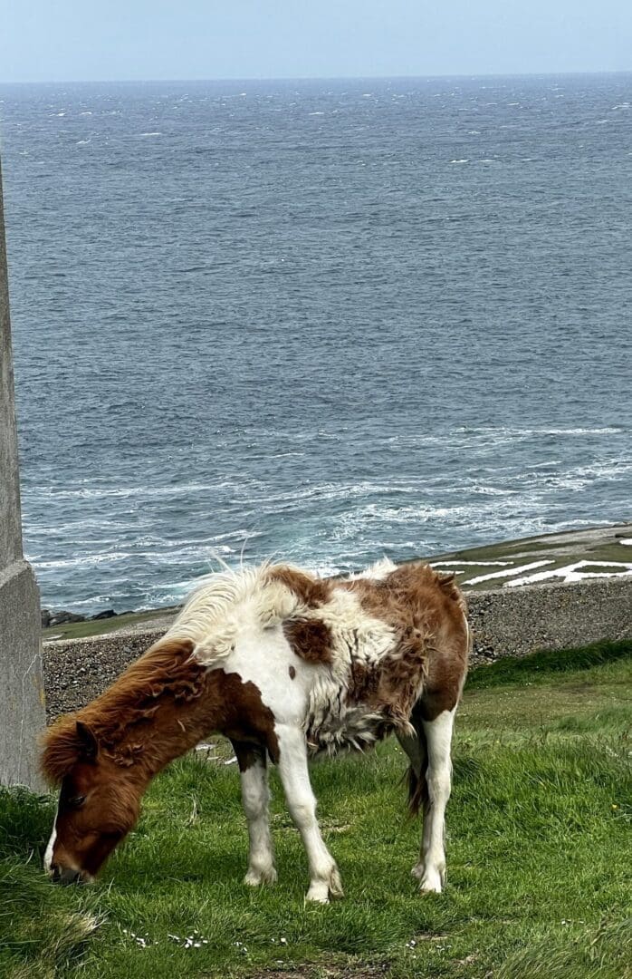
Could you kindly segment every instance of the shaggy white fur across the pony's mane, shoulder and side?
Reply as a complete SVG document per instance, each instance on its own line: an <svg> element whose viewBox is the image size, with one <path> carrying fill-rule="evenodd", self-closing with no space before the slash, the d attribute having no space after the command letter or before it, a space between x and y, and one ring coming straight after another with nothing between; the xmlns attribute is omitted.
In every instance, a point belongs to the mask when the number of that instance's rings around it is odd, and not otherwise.
<svg viewBox="0 0 632 979"><path fill-rule="evenodd" d="M365 575L380 581L395 569L384 559ZM272 571L274 566L264 564L210 577L165 638L193 640L198 662L254 683L278 723L302 727L314 754L370 745L385 715L380 708L349 704L347 694L354 666L372 670L397 656L395 629L368 614L357 594L340 583L332 582L329 600L312 607ZM293 652L284 624L310 621L329 629L331 662L306 662ZM290 667L293 682L280 682ZM419 674L421 693L422 660Z"/></svg>

